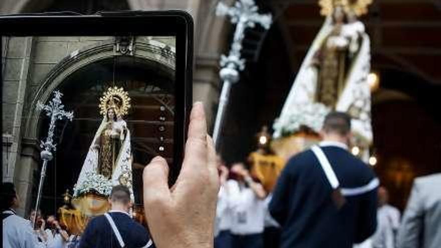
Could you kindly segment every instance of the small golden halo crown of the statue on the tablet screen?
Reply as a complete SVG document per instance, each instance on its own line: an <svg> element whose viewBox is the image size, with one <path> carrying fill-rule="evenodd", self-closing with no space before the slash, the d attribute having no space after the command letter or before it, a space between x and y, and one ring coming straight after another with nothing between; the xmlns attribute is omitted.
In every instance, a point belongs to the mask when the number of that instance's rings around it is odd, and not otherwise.
<svg viewBox="0 0 441 248"><path fill-rule="evenodd" d="M110 108L114 109L116 114L124 116L128 114L130 109L129 93L118 87L110 87L100 98L100 114L106 116Z"/></svg>

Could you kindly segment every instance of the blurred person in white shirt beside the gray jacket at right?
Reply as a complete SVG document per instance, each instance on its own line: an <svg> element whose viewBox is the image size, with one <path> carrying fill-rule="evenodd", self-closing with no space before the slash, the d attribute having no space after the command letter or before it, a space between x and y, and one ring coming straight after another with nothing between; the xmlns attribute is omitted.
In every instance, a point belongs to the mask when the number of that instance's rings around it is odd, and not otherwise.
<svg viewBox="0 0 441 248"><path fill-rule="evenodd" d="M373 248L394 248L400 225L400 212L388 204L389 193L385 187L378 188L377 229L372 236Z"/></svg>

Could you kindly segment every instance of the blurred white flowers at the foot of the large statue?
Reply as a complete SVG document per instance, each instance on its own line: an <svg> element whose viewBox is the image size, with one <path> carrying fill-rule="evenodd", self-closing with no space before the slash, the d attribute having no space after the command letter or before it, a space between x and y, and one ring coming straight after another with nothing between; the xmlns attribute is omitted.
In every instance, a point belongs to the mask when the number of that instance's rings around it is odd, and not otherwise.
<svg viewBox="0 0 441 248"><path fill-rule="evenodd" d="M329 112L329 108L321 103L296 104L292 106L291 113L286 119L275 121L273 128L280 130L279 133L282 137L300 131L302 126L318 133Z"/></svg>

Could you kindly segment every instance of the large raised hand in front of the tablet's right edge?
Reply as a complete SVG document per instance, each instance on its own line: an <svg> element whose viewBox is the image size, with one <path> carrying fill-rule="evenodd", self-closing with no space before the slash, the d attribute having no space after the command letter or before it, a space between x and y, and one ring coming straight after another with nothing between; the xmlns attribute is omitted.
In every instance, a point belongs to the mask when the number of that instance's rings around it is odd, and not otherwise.
<svg viewBox="0 0 441 248"><path fill-rule="evenodd" d="M144 169L145 216L156 247L213 247L219 182L201 103L191 110L182 168L171 189L167 178L162 157L155 157Z"/></svg>

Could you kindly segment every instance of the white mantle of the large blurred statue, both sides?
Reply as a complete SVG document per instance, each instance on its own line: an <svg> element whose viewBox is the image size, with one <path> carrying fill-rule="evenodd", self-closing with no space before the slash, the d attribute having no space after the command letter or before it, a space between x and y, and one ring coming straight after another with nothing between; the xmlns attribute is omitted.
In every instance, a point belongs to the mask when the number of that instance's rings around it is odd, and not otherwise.
<svg viewBox="0 0 441 248"><path fill-rule="evenodd" d="M356 25L364 26L361 22ZM300 70L294 80L290 93L285 101L279 118L274 125L274 138L282 136L282 129L288 125L290 115L296 108L301 108L314 103L314 96L317 88L318 72L312 65L317 51L321 48L324 40L333 29L332 17L328 15L314 39ZM363 143L370 144L372 141L372 128L370 118L370 88L367 83L367 76L370 72L370 41L369 36L362 34L359 51L354 55L353 63L346 77L346 86L337 100L336 111L348 112L355 107L361 111L359 117L352 119L352 130L363 139Z"/></svg>

